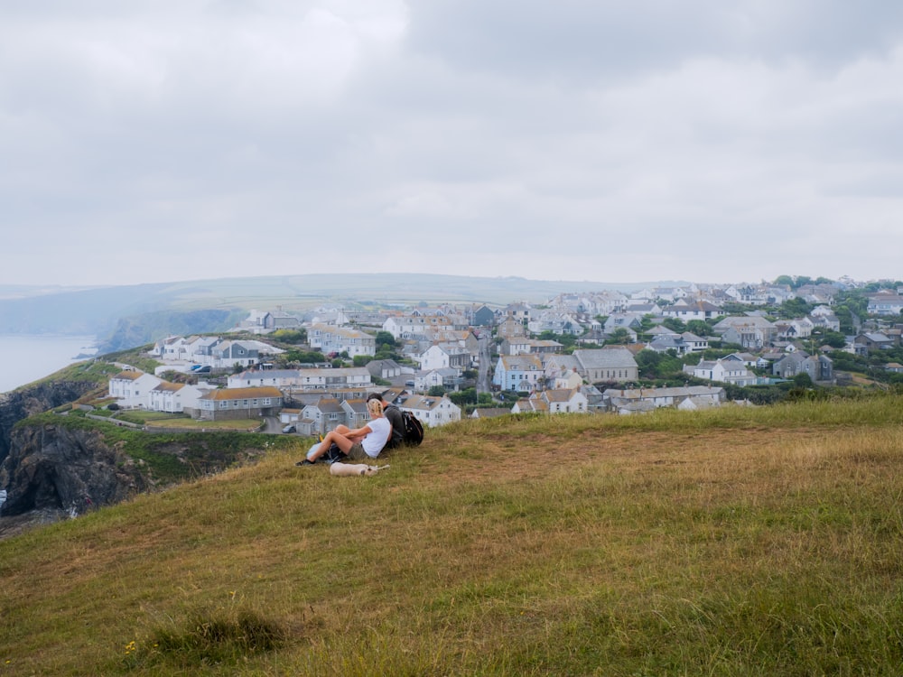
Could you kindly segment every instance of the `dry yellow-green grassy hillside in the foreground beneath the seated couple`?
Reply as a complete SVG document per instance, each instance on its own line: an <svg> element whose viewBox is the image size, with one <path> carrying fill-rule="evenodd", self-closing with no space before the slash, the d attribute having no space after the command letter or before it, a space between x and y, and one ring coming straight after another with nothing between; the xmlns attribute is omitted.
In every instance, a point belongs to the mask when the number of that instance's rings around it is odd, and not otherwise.
<svg viewBox="0 0 903 677"><path fill-rule="evenodd" d="M901 404L272 452L0 543L0 674L898 675Z"/></svg>

